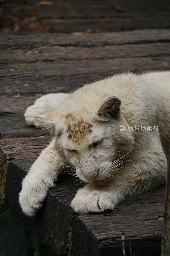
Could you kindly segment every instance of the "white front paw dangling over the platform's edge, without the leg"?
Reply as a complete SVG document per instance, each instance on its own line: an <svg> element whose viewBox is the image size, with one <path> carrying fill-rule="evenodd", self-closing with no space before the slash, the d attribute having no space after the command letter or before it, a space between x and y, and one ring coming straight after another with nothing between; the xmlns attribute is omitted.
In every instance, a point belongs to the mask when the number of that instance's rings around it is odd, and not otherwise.
<svg viewBox="0 0 170 256"><path fill-rule="evenodd" d="M22 211L27 216L33 216L38 209L42 207L42 202L47 195L45 188L33 184L26 184L22 186L22 190L19 193L19 203Z"/></svg>

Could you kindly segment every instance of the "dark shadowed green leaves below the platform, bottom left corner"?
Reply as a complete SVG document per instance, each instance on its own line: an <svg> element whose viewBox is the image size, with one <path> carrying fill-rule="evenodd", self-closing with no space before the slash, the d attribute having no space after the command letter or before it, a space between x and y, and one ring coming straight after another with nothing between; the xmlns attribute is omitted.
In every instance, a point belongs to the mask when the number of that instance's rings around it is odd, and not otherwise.
<svg viewBox="0 0 170 256"><path fill-rule="evenodd" d="M18 220L10 210L0 215L0 256L55 256L33 228Z"/></svg>

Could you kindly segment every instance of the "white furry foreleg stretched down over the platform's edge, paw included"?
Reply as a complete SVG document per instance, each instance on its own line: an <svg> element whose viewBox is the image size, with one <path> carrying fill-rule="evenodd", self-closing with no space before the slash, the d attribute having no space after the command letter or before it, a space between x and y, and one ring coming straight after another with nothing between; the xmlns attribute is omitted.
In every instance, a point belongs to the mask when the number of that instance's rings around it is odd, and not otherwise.
<svg viewBox="0 0 170 256"><path fill-rule="evenodd" d="M56 168L62 167L62 160L54 150L54 140L44 149L22 183L19 203L23 212L32 216L41 208L48 189L54 186L57 179Z"/></svg>

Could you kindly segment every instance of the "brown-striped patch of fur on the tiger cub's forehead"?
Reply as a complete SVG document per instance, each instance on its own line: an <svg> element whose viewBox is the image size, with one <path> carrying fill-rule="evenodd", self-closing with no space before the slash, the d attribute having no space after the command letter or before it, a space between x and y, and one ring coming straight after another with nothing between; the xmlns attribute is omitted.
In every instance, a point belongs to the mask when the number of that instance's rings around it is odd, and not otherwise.
<svg viewBox="0 0 170 256"><path fill-rule="evenodd" d="M68 138L73 142L80 144L83 138L92 133L92 124L89 124L87 121L82 118L77 119L72 115L66 116L67 120L67 129Z"/></svg>

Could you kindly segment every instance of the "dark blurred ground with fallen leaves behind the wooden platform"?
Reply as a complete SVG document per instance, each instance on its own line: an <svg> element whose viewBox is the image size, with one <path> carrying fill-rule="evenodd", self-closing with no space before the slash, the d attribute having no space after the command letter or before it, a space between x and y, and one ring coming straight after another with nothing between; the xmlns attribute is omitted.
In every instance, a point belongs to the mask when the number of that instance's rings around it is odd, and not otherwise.
<svg viewBox="0 0 170 256"><path fill-rule="evenodd" d="M0 33L75 35L170 28L167 0L0 0Z"/></svg>

